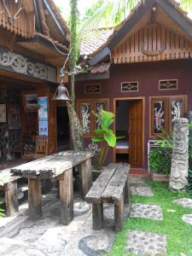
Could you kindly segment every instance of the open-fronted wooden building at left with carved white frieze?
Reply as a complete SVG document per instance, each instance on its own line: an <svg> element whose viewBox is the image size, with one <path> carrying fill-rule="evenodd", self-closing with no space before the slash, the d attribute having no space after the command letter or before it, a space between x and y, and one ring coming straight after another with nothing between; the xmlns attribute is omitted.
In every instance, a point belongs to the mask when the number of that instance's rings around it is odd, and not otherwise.
<svg viewBox="0 0 192 256"><path fill-rule="evenodd" d="M0 0L0 160L30 151L38 134L57 150L51 97L69 42L53 0Z"/></svg>

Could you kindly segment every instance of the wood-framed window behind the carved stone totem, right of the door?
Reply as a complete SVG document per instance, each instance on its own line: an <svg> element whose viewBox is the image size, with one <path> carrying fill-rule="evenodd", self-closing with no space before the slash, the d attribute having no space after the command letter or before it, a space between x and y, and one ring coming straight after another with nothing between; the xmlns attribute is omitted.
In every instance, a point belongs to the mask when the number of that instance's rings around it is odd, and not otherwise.
<svg viewBox="0 0 192 256"><path fill-rule="evenodd" d="M187 96L150 97L150 137L172 131L174 120L184 117L187 111Z"/></svg>

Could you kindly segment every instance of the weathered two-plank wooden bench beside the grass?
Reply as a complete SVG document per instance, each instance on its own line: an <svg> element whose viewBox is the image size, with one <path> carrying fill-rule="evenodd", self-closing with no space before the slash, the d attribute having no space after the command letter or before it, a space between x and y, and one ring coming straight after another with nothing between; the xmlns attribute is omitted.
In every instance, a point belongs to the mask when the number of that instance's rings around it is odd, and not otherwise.
<svg viewBox="0 0 192 256"><path fill-rule="evenodd" d="M85 201L92 204L94 230L102 229L104 202L114 204L115 230L122 230L124 203L130 201L129 170L128 164L106 166L85 196Z"/></svg>

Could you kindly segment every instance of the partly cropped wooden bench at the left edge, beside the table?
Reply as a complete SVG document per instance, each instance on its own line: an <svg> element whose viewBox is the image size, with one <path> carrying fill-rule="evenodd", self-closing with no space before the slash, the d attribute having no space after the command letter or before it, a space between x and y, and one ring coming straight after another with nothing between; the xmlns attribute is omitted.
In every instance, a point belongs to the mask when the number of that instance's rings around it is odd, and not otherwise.
<svg viewBox="0 0 192 256"><path fill-rule="evenodd" d="M7 216L14 216L19 212L18 203L18 189L17 180L20 177L13 176L10 173L10 169L5 169L0 172L0 190L5 193L5 204L7 210Z"/></svg>

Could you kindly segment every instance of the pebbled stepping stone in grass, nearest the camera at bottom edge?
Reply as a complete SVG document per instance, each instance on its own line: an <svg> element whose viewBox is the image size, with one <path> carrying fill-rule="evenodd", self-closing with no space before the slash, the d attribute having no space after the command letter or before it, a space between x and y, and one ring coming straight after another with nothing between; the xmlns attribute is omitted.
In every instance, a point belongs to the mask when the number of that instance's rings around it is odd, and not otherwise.
<svg viewBox="0 0 192 256"><path fill-rule="evenodd" d="M136 254L139 256L166 255L165 235L129 230L127 239L125 253L134 253L134 255Z"/></svg>

